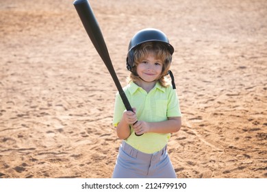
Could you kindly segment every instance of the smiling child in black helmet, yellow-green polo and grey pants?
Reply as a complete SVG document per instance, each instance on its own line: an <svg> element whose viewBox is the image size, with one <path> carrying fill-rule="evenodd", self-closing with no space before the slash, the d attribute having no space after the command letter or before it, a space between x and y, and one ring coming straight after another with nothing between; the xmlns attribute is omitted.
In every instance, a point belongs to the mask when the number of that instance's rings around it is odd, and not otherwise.
<svg viewBox="0 0 267 192"><path fill-rule="evenodd" d="M179 99L169 71L173 46L158 29L143 29L129 43L129 84L123 88L133 112L116 94L114 119L119 148L112 178L176 178L166 145L181 128ZM172 77L171 86L165 75Z"/></svg>

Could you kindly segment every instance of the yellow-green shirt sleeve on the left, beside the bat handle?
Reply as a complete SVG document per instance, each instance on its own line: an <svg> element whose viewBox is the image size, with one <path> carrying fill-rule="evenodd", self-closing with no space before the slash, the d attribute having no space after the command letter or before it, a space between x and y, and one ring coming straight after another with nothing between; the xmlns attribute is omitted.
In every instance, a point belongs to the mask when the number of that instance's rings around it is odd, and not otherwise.
<svg viewBox="0 0 267 192"><path fill-rule="evenodd" d="M114 117L112 122L115 127L120 122L120 119L123 116L124 111L125 111L125 106L123 104L123 100L121 99L120 94L116 93L115 104L114 104Z"/></svg>

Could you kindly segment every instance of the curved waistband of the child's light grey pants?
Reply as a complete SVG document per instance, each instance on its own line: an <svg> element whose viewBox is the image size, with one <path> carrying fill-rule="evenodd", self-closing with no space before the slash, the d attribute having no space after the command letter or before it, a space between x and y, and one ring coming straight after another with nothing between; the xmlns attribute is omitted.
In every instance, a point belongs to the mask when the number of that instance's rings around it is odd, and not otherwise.
<svg viewBox="0 0 267 192"><path fill-rule="evenodd" d="M155 160L160 160L160 157L163 156L167 150L167 145L166 145L159 152L155 152L154 154L146 154L146 153L140 152L138 149L131 147L131 145L129 145L125 141L121 143L120 147L123 149L124 152L126 152L133 158L138 158L142 160L151 160L151 158Z"/></svg>

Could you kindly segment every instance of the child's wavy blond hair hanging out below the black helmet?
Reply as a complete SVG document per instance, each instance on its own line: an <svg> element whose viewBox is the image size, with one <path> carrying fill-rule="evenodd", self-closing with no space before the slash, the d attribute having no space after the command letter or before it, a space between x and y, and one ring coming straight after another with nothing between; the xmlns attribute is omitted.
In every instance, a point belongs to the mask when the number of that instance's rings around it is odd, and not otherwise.
<svg viewBox="0 0 267 192"><path fill-rule="evenodd" d="M136 72L136 67L140 62L142 62L142 60L144 60L144 58L149 55L150 51L153 51L153 53L155 54L155 58L157 60L160 60L163 64L162 73L157 80L160 82L161 86L169 86L170 80L165 76L168 75L172 56L168 51L166 45L160 42L142 43L133 51L134 67L131 69L131 74L128 77L128 83L131 81L137 82L138 80L140 80L140 77Z"/></svg>

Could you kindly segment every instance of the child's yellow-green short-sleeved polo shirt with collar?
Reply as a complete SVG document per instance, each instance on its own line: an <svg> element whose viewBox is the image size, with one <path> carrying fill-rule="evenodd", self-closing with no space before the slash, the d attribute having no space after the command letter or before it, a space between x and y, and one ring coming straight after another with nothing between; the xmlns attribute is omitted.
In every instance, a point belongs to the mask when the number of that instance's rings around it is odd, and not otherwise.
<svg viewBox="0 0 267 192"><path fill-rule="evenodd" d="M160 122L166 121L168 117L181 117L179 99L176 90L172 86L164 88L159 82L147 93L143 88L131 82L123 88L125 95L132 108L136 108L138 121ZM116 94L114 106L113 125L116 127L125 111L120 95ZM125 139L126 143L147 154L160 151L168 143L170 133L145 133L136 136L131 128L131 135Z"/></svg>

